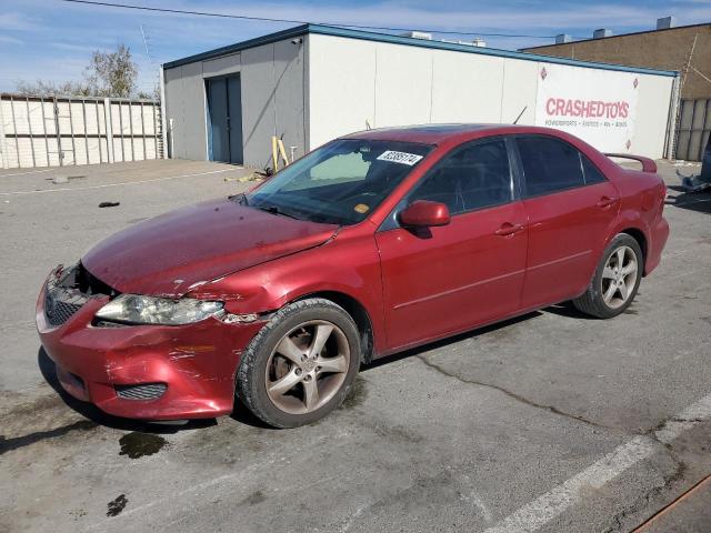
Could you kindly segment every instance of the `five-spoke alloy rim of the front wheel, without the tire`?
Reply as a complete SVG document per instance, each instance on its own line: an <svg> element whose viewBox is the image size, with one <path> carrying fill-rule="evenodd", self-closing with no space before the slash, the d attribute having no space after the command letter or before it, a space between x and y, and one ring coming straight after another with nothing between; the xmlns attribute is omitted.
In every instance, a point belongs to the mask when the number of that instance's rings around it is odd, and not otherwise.
<svg viewBox="0 0 711 533"><path fill-rule="evenodd" d="M341 389L350 358L348 339L336 324L323 320L299 324L269 355L267 394L286 413L311 413Z"/></svg>

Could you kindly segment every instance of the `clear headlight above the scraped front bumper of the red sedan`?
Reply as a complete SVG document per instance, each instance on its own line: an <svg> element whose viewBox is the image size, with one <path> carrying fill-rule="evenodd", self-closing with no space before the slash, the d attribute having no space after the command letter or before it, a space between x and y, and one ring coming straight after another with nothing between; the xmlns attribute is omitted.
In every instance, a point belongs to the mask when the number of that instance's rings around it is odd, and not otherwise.
<svg viewBox="0 0 711 533"><path fill-rule="evenodd" d="M199 322L222 311L222 302L181 298L121 294L97 312L97 318L129 324L182 325Z"/></svg>

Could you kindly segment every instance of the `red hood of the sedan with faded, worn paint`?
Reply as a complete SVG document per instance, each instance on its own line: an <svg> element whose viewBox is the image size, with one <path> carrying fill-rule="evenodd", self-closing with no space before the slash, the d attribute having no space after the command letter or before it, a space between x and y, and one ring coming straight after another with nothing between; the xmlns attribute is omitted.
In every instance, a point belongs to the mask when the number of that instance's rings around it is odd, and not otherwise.
<svg viewBox="0 0 711 533"><path fill-rule="evenodd" d="M337 229L221 199L132 225L81 262L119 292L180 298L203 282L322 244Z"/></svg>

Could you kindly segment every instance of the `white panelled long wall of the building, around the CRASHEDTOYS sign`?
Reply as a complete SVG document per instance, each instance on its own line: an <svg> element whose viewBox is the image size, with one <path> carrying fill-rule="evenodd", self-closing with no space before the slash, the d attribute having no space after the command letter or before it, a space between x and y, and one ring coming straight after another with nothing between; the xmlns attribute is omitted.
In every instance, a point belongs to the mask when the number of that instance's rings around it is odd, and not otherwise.
<svg viewBox="0 0 711 533"><path fill-rule="evenodd" d="M477 53L309 36L310 149L373 128L535 121L540 63ZM577 66L560 66L574 76ZM601 80L615 76L600 70ZM639 74L634 153L663 157L673 78ZM371 89L373 88L373 89Z"/></svg>

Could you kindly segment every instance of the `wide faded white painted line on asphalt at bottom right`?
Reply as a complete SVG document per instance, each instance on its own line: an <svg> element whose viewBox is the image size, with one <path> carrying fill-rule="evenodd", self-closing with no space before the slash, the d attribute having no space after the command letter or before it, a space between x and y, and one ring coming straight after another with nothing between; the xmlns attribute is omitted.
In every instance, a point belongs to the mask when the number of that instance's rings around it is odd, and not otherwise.
<svg viewBox="0 0 711 533"><path fill-rule="evenodd" d="M601 489L622 472L660 451L683 432L711 418L711 394L672 416L654 436L635 436L597 463L522 506L484 533L532 533L582 500L587 489Z"/></svg>

